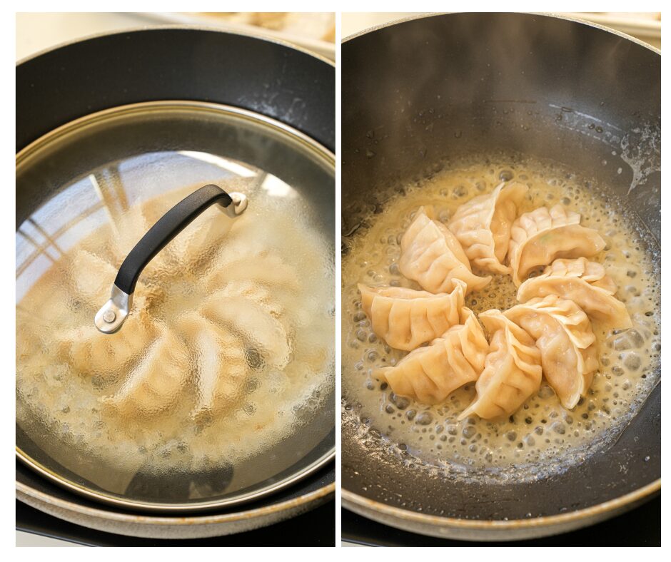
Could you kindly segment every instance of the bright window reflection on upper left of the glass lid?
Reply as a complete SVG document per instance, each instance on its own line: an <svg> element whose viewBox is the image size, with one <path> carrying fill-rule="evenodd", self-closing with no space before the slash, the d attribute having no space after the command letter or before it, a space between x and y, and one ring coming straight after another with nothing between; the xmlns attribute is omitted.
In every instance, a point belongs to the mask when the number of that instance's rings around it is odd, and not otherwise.
<svg viewBox="0 0 671 562"><path fill-rule="evenodd" d="M156 168L168 164L171 173L161 175L160 181L152 177ZM72 183L21 224L16 231L16 302L54 260L94 228L142 200L190 185L194 174L203 178L203 185L240 178L258 183L270 197L299 197L275 175L218 155L181 150L129 158ZM126 187L119 190L118 185Z"/></svg>

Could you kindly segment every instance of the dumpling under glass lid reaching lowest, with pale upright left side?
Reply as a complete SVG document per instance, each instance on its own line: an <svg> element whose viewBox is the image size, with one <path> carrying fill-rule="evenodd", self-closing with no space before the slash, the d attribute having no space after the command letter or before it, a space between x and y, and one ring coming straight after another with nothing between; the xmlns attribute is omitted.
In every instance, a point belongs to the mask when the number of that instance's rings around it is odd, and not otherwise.
<svg viewBox="0 0 671 562"><path fill-rule="evenodd" d="M192 417L230 407L243 395L248 374L245 349L239 339L195 312L181 317L176 329L195 356L196 404Z"/></svg>

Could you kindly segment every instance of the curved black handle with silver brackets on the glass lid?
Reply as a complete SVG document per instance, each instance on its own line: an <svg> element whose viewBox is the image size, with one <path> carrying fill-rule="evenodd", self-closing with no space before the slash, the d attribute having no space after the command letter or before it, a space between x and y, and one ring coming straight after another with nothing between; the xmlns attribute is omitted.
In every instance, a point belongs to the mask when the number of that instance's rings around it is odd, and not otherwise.
<svg viewBox="0 0 671 562"><path fill-rule="evenodd" d="M154 256L181 233L203 211L218 203L231 218L247 208L243 193L228 194L216 185L206 185L181 200L153 225L119 267L109 300L96 313L96 327L104 334L113 334L128 317L133 305L133 292L138 277Z"/></svg>

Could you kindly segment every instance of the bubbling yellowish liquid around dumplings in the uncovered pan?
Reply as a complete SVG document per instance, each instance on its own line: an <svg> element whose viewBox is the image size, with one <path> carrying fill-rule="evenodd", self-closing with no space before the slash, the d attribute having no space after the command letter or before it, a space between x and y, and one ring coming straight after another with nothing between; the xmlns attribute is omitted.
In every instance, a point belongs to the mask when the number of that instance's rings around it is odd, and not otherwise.
<svg viewBox="0 0 671 562"><path fill-rule="evenodd" d="M488 164L483 164L488 162ZM515 162L515 163L513 163ZM582 215L607 242L591 258L615 281L634 327L613 332L593 325L600 342L600 369L575 409L563 409L547 384L510 419L488 422L457 417L475 397L475 384L450 395L445 404L428 407L398 397L375 377L375 369L405 355L390 349L370 329L360 309L357 283L419 289L400 275L400 237L420 205L434 205L447 221L458 205L488 193L501 179L527 183L520 213L557 203ZM608 199L598 185L548 161L504 157L471 158L450 163L430 180L390 191L382 213L363 217L346 240L343 256L343 424L380 461L450 471L468 479L536 479L579 463L607 446L635 415L660 377L659 247L633 213ZM395 192L395 193L394 193ZM466 297L476 313L515 305L510 276Z"/></svg>

